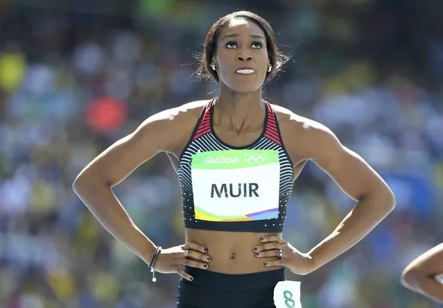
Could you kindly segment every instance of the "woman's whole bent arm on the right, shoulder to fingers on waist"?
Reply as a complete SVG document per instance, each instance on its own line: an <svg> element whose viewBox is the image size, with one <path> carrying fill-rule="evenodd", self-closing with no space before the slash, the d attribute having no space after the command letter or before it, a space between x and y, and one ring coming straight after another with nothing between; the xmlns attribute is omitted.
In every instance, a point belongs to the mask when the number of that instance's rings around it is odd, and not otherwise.
<svg viewBox="0 0 443 308"><path fill-rule="evenodd" d="M395 207L395 198L388 185L362 157L343 146L336 135L320 123L299 117L285 108L279 110L281 135L293 162L299 162L294 174L312 160L333 178L342 191L357 201L336 230L312 248L300 253L278 234L259 239L257 257L278 257L265 266L286 266L298 275L309 274L338 257L361 241ZM257 255L257 253L259 253Z"/></svg>

